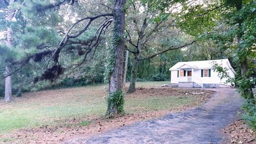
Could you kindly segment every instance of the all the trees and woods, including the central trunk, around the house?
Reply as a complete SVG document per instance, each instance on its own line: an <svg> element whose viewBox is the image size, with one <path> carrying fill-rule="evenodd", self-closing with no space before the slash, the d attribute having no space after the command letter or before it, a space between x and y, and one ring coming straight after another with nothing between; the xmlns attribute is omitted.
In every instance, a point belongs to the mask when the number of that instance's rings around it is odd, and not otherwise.
<svg viewBox="0 0 256 144"><path fill-rule="evenodd" d="M105 82L113 115L124 81L132 93L136 81L168 81L179 61L228 58L253 117L255 12L242 0L1 0L0 94Z"/></svg>

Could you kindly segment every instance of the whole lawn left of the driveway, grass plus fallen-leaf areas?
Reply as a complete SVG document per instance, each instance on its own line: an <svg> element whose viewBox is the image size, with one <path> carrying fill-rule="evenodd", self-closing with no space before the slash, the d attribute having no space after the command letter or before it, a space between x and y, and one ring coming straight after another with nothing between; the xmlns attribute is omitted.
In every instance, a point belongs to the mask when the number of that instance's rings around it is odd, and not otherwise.
<svg viewBox="0 0 256 144"><path fill-rule="evenodd" d="M25 93L1 102L0 143L59 143L75 135L99 134L172 111L201 105L212 91L159 87L168 82L141 82L125 95L125 115L104 117L104 85Z"/></svg>

